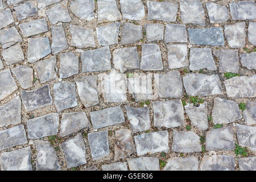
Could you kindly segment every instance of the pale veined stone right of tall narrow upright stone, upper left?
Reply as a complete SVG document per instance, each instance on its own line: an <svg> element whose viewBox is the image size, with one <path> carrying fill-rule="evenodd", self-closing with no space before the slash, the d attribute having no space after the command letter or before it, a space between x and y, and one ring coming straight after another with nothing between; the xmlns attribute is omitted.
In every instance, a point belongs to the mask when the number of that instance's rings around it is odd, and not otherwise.
<svg viewBox="0 0 256 182"><path fill-rule="evenodd" d="M77 48L95 47L93 29L69 25L69 30L72 35L71 46Z"/></svg>

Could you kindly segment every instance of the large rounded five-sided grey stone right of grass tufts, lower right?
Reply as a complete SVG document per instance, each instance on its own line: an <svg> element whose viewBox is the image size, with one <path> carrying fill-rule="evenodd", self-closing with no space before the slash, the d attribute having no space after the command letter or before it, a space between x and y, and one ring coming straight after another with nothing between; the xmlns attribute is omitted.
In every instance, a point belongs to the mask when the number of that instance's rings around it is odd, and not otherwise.
<svg viewBox="0 0 256 182"><path fill-rule="evenodd" d="M214 124L232 123L241 118L242 115L236 102L219 97L214 98L214 106L212 109Z"/></svg>

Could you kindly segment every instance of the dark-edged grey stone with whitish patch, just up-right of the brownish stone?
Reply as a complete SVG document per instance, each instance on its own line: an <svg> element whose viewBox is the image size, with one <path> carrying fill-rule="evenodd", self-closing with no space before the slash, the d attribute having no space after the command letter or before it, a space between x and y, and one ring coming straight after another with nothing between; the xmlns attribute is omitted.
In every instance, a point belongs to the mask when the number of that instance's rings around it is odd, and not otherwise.
<svg viewBox="0 0 256 182"><path fill-rule="evenodd" d="M133 108L125 106L127 111L127 118L131 123L131 130L133 133L146 131L150 129L150 116L148 107Z"/></svg>

